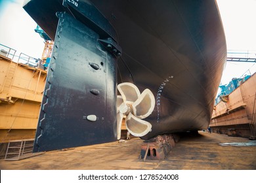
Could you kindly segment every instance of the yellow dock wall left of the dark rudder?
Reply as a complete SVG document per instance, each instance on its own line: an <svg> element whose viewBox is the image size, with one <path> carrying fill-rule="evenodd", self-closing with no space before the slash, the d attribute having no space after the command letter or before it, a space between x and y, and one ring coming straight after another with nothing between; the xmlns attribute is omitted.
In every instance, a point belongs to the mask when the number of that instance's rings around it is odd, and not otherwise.
<svg viewBox="0 0 256 183"><path fill-rule="evenodd" d="M35 137L46 76L0 55L0 142Z"/></svg>

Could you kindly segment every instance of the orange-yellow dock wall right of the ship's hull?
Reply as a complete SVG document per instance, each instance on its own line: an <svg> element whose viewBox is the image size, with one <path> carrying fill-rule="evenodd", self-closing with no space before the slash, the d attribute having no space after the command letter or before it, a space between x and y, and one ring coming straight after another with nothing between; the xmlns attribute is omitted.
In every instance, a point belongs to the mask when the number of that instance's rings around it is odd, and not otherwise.
<svg viewBox="0 0 256 183"><path fill-rule="evenodd" d="M215 106L210 126L217 131L223 129L221 133L236 133L242 137L250 136L252 130L250 127L255 127L255 93L256 74L230 93L226 103L221 101Z"/></svg>

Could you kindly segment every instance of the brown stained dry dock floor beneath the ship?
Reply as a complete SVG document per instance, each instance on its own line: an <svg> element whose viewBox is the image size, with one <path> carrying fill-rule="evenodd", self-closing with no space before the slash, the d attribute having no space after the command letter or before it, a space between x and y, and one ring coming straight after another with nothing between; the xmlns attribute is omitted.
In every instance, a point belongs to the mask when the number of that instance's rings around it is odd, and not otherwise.
<svg viewBox="0 0 256 183"><path fill-rule="evenodd" d="M199 131L199 137L183 137L163 160L139 159L142 140L110 142L68 150L45 152L19 161L0 159L1 170L255 170L256 146L221 146L221 143L256 143Z"/></svg>

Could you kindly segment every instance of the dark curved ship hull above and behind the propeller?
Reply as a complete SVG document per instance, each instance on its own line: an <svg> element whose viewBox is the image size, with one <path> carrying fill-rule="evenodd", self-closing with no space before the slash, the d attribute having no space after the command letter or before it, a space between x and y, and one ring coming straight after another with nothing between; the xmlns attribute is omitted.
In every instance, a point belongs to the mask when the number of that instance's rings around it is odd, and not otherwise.
<svg viewBox="0 0 256 183"><path fill-rule="evenodd" d="M51 4L51 5L50 5ZM154 93L156 106L141 137L205 129L226 61L215 1L91 1L114 27L121 58L117 83ZM62 1L30 1L25 10L54 39ZM51 17L51 18L50 18ZM47 21L46 21L47 20Z"/></svg>

